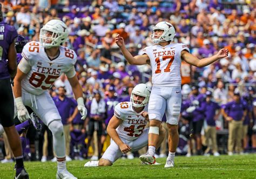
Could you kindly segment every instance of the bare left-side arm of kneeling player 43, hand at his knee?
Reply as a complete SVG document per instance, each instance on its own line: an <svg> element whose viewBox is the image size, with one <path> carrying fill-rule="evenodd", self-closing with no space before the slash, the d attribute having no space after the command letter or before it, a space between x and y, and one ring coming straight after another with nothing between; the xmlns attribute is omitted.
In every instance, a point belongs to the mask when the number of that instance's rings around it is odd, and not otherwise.
<svg viewBox="0 0 256 179"><path fill-rule="evenodd" d="M114 142L119 146L122 153L126 154L131 151L131 147L125 144L117 134L116 128L122 123L122 119L118 119L116 116L113 117L109 121L109 125L107 125L107 134L113 139Z"/></svg>

